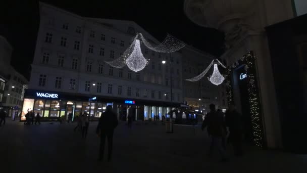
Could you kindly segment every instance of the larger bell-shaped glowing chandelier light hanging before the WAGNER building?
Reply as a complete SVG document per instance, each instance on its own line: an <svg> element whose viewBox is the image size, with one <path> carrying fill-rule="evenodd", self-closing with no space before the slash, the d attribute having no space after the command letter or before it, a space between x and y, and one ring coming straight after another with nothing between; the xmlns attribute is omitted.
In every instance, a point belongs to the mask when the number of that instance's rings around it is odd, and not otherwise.
<svg viewBox="0 0 307 173"><path fill-rule="evenodd" d="M135 39L134 49L131 55L126 59L126 64L130 70L135 72L141 71L147 65L147 60L141 52L139 39Z"/></svg>

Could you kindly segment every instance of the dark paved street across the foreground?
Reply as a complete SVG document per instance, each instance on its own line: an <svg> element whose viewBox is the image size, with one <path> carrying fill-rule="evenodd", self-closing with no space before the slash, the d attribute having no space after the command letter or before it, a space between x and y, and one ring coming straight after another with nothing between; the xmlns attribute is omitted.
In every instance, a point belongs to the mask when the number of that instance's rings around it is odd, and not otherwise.
<svg viewBox="0 0 307 173"><path fill-rule="evenodd" d="M307 156L247 149L236 158L228 147L229 161L207 158L206 132L175 126L166 134L161 124L121 123L115 132L111 163L97 162L99 139L92 122L86 140L74 133L76 123L23 125L7 119L0 127L1 172L307 172ZM218 152L216 152L218 154Z"/></svg>

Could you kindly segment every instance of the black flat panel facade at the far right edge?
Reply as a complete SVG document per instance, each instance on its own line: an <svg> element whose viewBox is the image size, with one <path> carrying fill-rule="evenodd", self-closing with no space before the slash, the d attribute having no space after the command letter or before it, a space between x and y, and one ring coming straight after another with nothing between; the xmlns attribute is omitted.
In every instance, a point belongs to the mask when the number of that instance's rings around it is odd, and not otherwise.
<svg viewBox="0 0 307 173"><path fill-rule="evenodd" d="M266 28L283 147L307 153L307 15Z"/></svg>

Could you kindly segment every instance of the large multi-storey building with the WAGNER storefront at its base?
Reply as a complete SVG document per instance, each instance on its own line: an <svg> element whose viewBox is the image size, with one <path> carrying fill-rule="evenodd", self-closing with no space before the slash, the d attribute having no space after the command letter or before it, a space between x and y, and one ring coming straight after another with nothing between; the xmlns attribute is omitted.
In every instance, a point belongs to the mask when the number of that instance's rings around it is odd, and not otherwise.
<svg viewBox="0 0 307 173"><path fill-rule="evenodd" d="M34 110L48 118L67 117L70 112L74 116L88 112L99 117L106 105L113 104L119 118L125 119L132 111L136 120L161 120L162 115L183 102L180 53L161 54L142 47L149 63L138 73L105 63L119 58L137 32L152 44L159 44L136 23L81 17L44 3L39 3L39 10L40 25L23 116ZM172 69L162 60L171 61ZM88 99L93 97L97 99L90 102Z"/></svg>

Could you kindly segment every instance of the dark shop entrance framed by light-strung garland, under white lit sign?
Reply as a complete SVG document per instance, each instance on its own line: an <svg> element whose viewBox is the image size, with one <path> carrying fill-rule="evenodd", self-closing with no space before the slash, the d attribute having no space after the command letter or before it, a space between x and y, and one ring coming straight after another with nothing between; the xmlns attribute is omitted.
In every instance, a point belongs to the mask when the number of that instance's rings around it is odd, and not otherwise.
<svg viewBox="0 0 307 173"><path fill-rule="evenodd" d="M244 119L245 139L263 147L262 107L253 52L248 52L226 70L228 105L235 105Z"/></svg>

